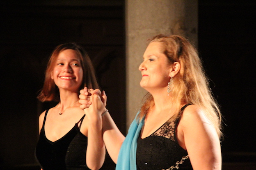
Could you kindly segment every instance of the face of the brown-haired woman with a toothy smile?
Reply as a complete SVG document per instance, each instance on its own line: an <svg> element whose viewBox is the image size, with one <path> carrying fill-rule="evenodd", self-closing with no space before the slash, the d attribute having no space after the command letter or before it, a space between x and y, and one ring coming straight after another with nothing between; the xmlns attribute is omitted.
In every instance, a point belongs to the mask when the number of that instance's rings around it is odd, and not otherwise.
<svg viewBox="0 0 256 170"><path fill-rule="evenodd" d="M51 78L59 89L78 92L82 83L83 70L73 49L66 49L59 53Z"/></svg>

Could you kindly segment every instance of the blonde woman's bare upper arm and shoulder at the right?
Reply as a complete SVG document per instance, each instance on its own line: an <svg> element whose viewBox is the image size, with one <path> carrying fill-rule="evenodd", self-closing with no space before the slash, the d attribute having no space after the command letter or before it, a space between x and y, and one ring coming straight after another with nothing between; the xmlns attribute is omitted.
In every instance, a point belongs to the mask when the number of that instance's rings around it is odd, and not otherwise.
<svg viewBox="0 0 256 170"><path fill-rule="evenodd" d="M194 170L221 170L219 137L197 106L190 105L184 110L179 130L179 143L187 150Z"/></svg>

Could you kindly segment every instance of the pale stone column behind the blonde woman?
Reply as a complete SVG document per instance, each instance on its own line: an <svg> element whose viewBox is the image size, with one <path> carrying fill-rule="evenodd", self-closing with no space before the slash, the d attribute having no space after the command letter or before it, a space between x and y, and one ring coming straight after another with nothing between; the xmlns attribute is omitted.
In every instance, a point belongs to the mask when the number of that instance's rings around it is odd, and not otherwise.
<svg viewBox="0 0 256 170"><path fill-rule="evenodd" d="M138 70L146 40L156 34L179 34L197 47L198 0L126 0L126 127L146 91Z"/></svg>

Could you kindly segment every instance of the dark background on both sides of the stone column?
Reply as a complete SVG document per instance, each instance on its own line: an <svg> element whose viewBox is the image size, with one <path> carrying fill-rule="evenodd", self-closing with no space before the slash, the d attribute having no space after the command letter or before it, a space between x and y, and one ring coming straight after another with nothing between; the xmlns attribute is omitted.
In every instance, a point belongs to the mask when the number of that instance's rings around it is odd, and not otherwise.
<svg viewBox="0 0 256 170"><path fill-rule="evenodd" d="M77 42L96 68L125 134L123 0L0 2L0 170L39 169L36 96L54 47ZM256 169L256 3L199 0L198 50L224 115L223 170ZM102 169L112 169L107 158Z"/></svg>

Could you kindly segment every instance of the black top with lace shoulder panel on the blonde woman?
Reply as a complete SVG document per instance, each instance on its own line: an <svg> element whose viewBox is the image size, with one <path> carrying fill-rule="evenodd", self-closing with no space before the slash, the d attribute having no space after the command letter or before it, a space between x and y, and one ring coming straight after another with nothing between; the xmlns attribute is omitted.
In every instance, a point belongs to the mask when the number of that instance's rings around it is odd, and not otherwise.
<svg viewBox="0 0 256 170"><path fill-rule="evenodd" d="M181 114L177 119L170 118L150 136L137 141L137 170L193 170L187 151L178 144L176 130Z"/></svg>

